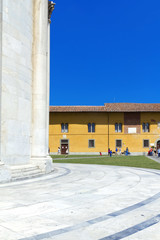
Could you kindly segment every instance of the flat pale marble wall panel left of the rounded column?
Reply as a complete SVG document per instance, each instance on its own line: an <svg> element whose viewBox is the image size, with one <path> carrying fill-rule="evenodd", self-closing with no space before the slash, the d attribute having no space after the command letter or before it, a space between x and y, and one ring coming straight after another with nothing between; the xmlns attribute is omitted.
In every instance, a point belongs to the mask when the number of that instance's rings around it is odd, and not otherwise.
<svg viewBox="0 0 160 240"><path fill-rule="evenodd" d="M33 0L0 3L1 160L25 164L31 155Z"/></svg>

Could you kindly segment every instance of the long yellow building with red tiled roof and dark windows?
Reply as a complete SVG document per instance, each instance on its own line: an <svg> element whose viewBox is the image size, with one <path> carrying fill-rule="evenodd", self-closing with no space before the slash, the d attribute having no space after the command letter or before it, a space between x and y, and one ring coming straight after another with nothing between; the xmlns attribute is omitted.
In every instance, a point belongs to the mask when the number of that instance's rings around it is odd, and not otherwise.
<svg viewBox="0 0 160 240"><path fill-rule="evenodd" d="M160 147L160 104L107 103L104 106L51 106L49 147L65 154L131 154Z"/></svg>

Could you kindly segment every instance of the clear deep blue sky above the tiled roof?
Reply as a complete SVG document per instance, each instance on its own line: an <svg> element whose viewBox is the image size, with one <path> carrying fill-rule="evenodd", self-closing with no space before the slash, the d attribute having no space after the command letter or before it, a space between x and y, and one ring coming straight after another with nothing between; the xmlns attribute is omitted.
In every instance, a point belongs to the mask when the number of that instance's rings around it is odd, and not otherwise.
<svg viewBox="0 0 160 240"><path fill-rule="evenodd" d="M160 103L160 1L56 1L50 105Z"/></svg>

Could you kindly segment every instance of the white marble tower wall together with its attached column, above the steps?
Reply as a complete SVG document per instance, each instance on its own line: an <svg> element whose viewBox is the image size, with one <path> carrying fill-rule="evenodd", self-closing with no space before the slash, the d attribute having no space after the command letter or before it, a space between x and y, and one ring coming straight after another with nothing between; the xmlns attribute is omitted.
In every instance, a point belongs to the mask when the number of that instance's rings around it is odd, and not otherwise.
<svg viewBox="0 0 160 240"><path fill-rule="evenodd" d="M13 166L53 170L48 49L48 0L0 0L0 182Z"/></svg>

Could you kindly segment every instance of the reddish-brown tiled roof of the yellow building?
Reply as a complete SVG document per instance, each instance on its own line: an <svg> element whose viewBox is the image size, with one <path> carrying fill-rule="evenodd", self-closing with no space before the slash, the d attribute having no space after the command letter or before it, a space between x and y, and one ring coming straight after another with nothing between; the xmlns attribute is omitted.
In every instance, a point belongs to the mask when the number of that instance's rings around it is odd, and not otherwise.
<svg viewBox="0 0 160 240"><path fill-rule="evenodd" d="M104 106L50 106L50 112L160 112L160 103L105 103Z"/></svg>

